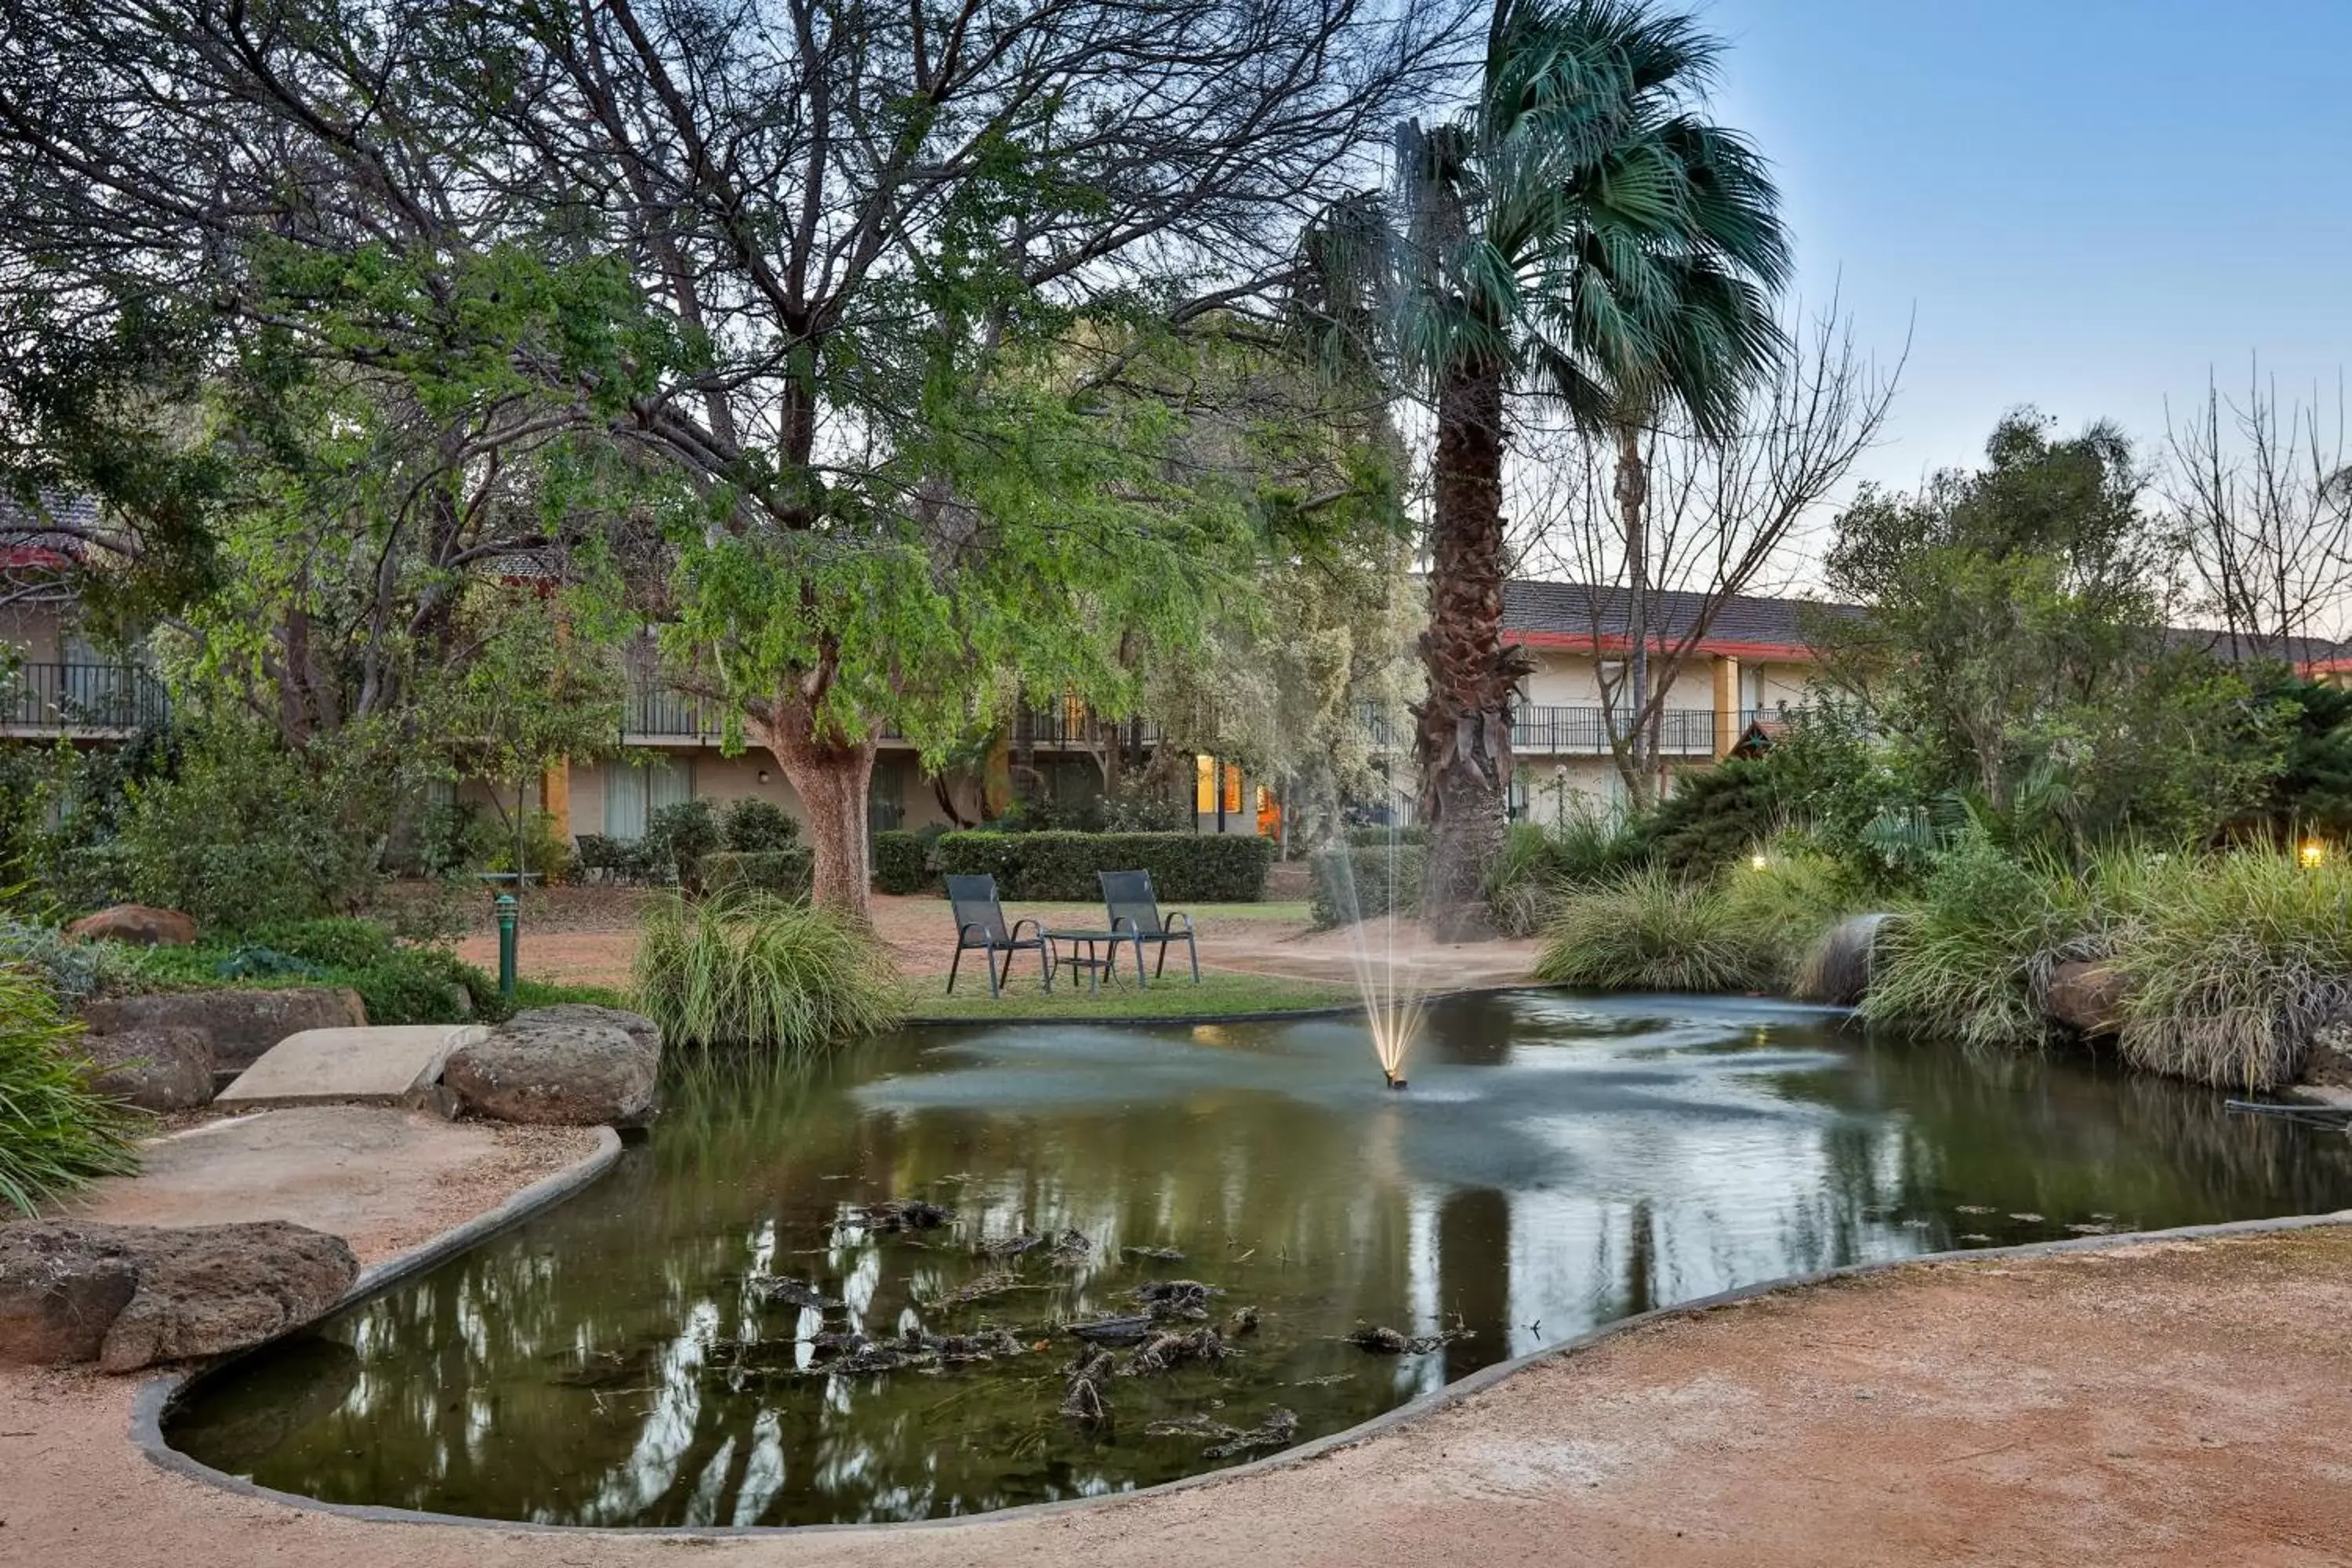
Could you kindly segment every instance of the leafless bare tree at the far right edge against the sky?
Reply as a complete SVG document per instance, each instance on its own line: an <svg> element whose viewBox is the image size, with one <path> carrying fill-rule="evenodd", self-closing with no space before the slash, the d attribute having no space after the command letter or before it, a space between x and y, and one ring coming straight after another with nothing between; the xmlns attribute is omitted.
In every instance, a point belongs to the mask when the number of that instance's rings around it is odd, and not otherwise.
<svg viewBox="0 0 2352 1568"><path fill-rule="evenodd" d="M2232 656L2291 656L2288 639L2345 630L2352 592L2352 449L2345 395L2328 416L2279 402L2253 371L2246 400L2206 386L2204 404L2166 418L2159 491L2192 571L2194 611L2220 621Z"/></svg>

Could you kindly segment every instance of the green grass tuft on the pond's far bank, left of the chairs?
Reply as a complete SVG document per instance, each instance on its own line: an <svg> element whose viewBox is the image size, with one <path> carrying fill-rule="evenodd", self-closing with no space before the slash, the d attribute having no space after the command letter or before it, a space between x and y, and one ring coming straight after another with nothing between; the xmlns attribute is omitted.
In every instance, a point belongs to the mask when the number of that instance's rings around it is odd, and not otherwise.
<svg viewBox="0 0 2352 1568"><path fill-rule="evenodd" d="M771 893L656 903L637 945L637 1006L673 1041L795 1056L903 1016L870 931Z"/></svg>

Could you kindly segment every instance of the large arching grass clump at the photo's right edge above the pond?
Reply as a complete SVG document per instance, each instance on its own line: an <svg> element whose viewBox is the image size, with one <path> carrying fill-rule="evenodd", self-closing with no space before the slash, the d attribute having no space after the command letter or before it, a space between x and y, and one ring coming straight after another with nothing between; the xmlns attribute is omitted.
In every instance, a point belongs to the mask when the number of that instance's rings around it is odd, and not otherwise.
<svg viewBox="0 0 2352 1568"><path fill-rule="evenodd" d="M2352 865L2277 851L2131 856L2096 882L2124 919L2117 1046L2133 1067L2274 1088L2321 1025L2352 1023Z"/></svg>

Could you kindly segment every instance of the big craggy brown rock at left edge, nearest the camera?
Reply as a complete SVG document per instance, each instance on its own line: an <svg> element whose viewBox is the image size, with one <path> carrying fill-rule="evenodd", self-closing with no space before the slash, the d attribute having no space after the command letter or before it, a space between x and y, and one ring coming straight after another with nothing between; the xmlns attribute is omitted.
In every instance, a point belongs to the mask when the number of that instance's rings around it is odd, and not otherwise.
<svg viewBox="0 0 2352 1568"><path fill-rule="evenodd" d="M129 1373L310 1324L360 1260L341 1237L252 1225L31 1222L0 1229L0 1359Z"/></svg>

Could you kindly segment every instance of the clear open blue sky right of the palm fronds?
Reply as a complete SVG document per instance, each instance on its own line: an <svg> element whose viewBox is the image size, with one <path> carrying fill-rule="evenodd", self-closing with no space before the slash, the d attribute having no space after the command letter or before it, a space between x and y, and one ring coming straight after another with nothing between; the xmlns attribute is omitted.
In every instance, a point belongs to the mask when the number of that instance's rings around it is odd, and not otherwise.
<svg viewBox="0 0 2352 1568"><path fill-rule="evenodd" d="M1773 160L1799 289L1912 329L1870 477L2037 404L2154 456L2206 376L2352 371L2352 0L1698 0L1715 115Z"/></svg>

